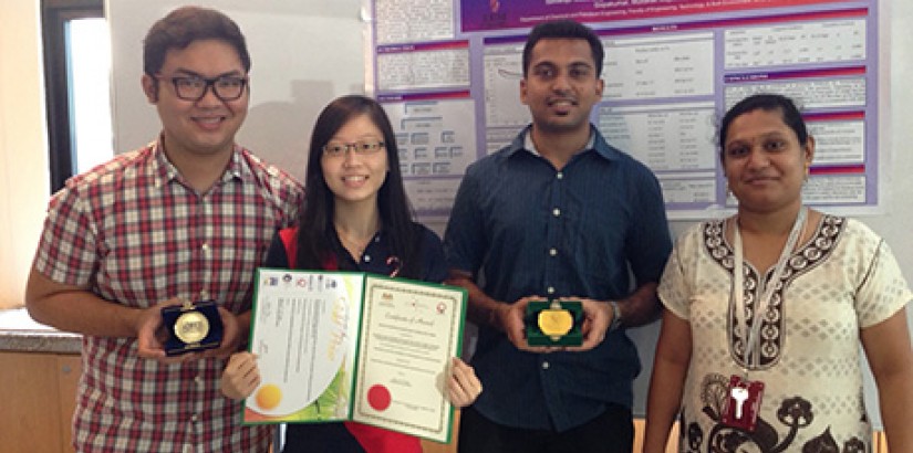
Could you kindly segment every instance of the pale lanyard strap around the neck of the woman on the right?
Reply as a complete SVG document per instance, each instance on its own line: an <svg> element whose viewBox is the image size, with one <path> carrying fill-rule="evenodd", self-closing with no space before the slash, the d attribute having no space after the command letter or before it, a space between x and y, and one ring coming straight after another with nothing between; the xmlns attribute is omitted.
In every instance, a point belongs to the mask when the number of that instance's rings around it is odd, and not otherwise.
<svg viewBox="0 0 913 453"><path fill-rule="evenodd" d="M807 214L808 208L802 207L802 209L799 210L799 215L796 217L796 221L792 223L792 230L790 230L789 238L786 240L786 244L784 244L784 250L780 251L780 257L777 260L777 265L774 267L774 274L770 275L770 280L765 283L764 276L758 275L758 286L761 291L759 292L760 297L755 303L755 318L751 319L750 326L748 325L748 307L745 305L745 288L743 287L744 252L741 247L741 233L739 233L738 219L736 218L736 222L733 228L733 239L735 242L735 263L733 268L733 273L735 274L733 276L733 309L735 310L736 323L739 330L741 330L743 338L745 339L746 369L751 368L753 361L755 366L760 365L760 338L758 337L760 335L761 319L767 315L767 309L770 306L770 298L774 296L774 291L782 277L784 268L786 268L786 262L789 260L792 249L796 247L796 243L799 242L799 232L802 231L802 225L806 222Z"/></svg>

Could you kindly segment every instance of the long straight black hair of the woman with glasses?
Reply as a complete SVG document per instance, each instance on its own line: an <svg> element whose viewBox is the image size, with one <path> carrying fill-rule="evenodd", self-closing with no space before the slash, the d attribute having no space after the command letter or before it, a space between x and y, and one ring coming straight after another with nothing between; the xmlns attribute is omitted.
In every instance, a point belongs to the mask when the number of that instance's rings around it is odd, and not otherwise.
<svg viewBox="0 0 913 453"><path fill-rule="evenodd" d="M400 171L400 152L396 147L396 137L393 126L384 108L374 99L360 95L349 95L331 102L314 124L311 135L311 149L308 157L308 169L304 178L304 207L298 218L298 256L295 266L299 268L323 268L328 260L335 260L333 238L334 198L326 186L323 167L320 165L323 146L349 120L361 115L367 115L374 125L381 129L387 158L387 176L377 193L377 209L381 213L381 229L390 243L390 252L400 260L397 275L421 278L422 230L413 221L412 206L403 187L403 176Z"/></svg>

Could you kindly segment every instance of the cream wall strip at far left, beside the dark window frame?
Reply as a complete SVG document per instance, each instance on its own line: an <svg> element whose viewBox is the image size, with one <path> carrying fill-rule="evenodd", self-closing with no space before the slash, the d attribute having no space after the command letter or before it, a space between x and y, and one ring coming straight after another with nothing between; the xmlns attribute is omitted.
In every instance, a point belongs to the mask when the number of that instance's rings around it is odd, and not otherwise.
<svg viewBox="0 0 913 453"><path fill-rule="evenodd" d="M0 308L22 304L48 203L39 0L0 13Z"/></svg>

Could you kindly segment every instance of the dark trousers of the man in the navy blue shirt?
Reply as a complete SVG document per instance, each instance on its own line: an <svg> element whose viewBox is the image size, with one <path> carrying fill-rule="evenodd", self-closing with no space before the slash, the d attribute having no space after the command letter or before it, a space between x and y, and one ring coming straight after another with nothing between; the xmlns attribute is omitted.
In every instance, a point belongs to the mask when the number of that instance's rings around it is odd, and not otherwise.
<svg viewBox="0 0 913 453"><path fill-rule="evenodd" d="M497 424L473 407L459 419L460 453L631 453L634 421L631 410L611 404L601 415L564 432L527 430Z"/></svg>

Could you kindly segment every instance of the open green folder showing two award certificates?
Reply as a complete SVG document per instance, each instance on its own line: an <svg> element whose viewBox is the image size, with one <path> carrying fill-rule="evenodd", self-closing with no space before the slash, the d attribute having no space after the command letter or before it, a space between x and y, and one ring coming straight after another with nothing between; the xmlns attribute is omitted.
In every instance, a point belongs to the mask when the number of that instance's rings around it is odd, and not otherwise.
<svg viewBox="0 0 913 453"><path fill-rule="evenodd" d="M243 421L352 420L449 442L466 291L356 272L260 268Z"/></svg>

